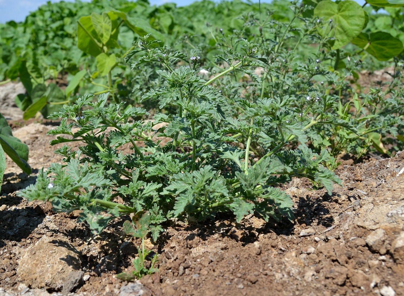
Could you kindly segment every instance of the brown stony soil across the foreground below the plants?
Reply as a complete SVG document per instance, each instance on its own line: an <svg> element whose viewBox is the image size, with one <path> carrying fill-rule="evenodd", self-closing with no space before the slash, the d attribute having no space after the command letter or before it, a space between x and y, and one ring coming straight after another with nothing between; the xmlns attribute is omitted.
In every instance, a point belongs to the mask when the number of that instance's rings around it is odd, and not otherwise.
<svg viewBox="0 0 404 296"><path fill-rule="evenodd" d="M4 96L0 103L2 113L15 108ZM29 146L33 173L7 159L0 295L404 295L404 152L358 164L342 158L336 173L343 187L332 196L294 179L284 190L295 203L295 223L254 215L240 223L232 215L172 221L156 244L146 241L160 271L128 283L116 274L133 270L141 242L124 235L123 219L95 235L79 213L55 213L47 202L17 195L38 170L61 161L46 135L57 123L24 122L21 112L6 118Z"/></svg>

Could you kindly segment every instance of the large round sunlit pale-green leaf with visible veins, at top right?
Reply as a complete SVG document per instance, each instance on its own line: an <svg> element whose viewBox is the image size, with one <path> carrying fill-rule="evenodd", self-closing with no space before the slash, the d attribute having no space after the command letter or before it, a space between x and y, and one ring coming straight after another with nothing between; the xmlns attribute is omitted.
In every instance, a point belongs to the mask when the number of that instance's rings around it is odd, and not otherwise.
<svg viewBox="0 0 404 296"><path fill-rule="evenodd" d="M332 49L341 48L358 36L366 19L363 8L351 0L341 1L338 4L323 0L314 9L314 15L323 18L327 24L320 33L328 33L328 26L332 26L330 33L335 38Z"/></svg>

